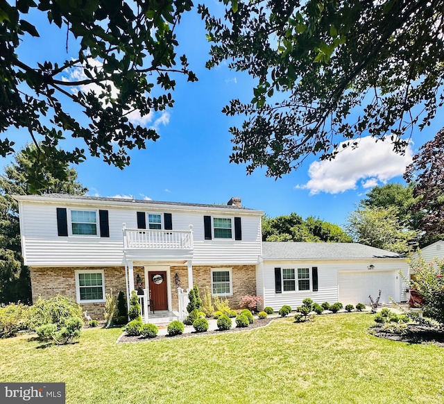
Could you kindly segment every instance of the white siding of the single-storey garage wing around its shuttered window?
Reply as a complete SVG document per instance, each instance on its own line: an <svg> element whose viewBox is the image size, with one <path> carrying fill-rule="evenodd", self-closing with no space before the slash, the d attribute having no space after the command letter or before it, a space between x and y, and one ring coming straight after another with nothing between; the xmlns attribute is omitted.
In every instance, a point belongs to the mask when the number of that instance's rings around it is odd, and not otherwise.
<svg viewBox="0 0 444 404"><path fill-rule="evenodd" d="M398 295L393 296L396 301L406 301L407 295L404 292L404 280L400 276L399 271L402 270L404 276L408 274L407 262L403 259L396 260L373 260L373 264L378 271L391 271L393 277L398 277L397 289ZM312 298L316 303L335 303L339 301L339 271L341 276L347 278L347 272L351 276L362 273L363 276L368 272L368 260L317 260L317 261L264 261L264 305L271 306L273 310L277 311L282 308L282 305L290 305L294 310L296 307L302 305L304 298ZM275 271L278 268L309 268L310 269L310 290L301 292L283 292L275 293ZM318 267L318 291L313 292L311 268ZM258 271L260 273L260 271ZM296 280L297 283L297 280ZM403 289L404 288L404 289ZM393 289L393 288L392 288ZM368 296L368 294L367 294ZM375 297L376 296L372 296ZM341 303L345 303L341 301ZM346 302L356 304L356 302ZM368 304L367 301L361 303Z"/></svg>

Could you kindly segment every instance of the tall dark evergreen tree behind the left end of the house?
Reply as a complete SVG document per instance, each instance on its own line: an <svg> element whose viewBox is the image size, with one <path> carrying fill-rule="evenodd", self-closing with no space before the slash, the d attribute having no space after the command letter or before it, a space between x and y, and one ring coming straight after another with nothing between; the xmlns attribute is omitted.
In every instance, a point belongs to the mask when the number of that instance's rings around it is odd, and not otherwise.
<svg viewBox="0 0 444 404"><path fill-rule="evenodd" d="M23 264L18 206L12 195L30 194L27 178L29 171L33 170L33 163L28 155L36 149L34 145L26 146L0 176L0 303L31 303L31 280L29 269ZM64 171L66 180L53 178L43 171L48 187L40 193L83 195L87 192L87 188L77 180L76 169L65 165Z"/></svg>

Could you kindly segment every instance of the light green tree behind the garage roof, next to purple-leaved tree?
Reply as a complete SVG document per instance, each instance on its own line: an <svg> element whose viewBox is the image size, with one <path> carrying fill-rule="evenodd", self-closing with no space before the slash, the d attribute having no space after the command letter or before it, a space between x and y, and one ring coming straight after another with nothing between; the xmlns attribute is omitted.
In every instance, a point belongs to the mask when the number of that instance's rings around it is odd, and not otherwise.
<svg viewBox="0 0 444 404"><path fill-rule="evenodd" d="M398 219L394 206L360 205L348 215L347 232L355 242L396 253L408 253L417 246L418 232L407 230Z"/></svg>

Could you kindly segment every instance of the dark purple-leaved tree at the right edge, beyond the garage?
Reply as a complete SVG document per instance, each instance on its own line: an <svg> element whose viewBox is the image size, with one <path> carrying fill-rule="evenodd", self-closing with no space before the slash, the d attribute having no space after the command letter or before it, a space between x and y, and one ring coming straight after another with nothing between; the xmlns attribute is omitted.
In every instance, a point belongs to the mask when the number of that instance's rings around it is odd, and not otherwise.
<svg viewBox="0 0 444 404"><path fill-rule="evenodd" d="M422 145L404 178L413 182L416 201L413 212L420 215L419 228L425 234L422 246L444 237L444 129Z"/></svg>

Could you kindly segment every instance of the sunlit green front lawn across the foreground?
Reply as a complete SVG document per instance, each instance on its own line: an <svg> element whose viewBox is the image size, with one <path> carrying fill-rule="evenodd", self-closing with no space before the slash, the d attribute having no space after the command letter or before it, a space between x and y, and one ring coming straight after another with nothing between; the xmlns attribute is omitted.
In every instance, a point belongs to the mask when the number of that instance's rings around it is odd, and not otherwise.
<svg viewBox="0 0 444 404"><path fill-rule="evenodd" d="M444 349L369 335L370 314L273 321L245 333L70 346L0 341L2 382L66 382L67 403L443 403Z"/></svg>

